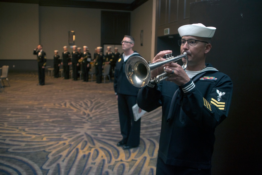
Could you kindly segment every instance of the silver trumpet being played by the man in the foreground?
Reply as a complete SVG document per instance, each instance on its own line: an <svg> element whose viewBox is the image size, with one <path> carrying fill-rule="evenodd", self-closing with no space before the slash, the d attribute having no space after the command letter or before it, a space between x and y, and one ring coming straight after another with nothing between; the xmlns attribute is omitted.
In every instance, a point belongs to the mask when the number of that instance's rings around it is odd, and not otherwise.
<svg viewBox="0 0 262 175"><path fill-rule="evenodd" d="M167 63L175 62L182 58L185 58L185 63L182 65L183 69L187 68L188 57L187 53L184 52L182 55L176 57L172 56L172 53L166 54L166 60L159 61L157 63L148 63L141 56L132 56L127 60L125 64L125 75L127 76L128 81L135 87L141 88L148 83L160 83L163 80L170 78L171 73L164 72L160 75L157 75L154 79L151 78L151 71L159 68Z"/></svg>

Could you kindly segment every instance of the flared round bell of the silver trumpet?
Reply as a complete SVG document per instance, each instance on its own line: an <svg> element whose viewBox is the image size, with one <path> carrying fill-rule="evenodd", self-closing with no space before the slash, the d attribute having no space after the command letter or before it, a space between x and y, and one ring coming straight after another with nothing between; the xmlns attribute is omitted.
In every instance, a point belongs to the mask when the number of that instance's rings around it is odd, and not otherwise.
<svg viewBox="0 0 262 175"><path fill-rule="evenodd" d="M125 75L128 81L135 87L141 88L151 79L148 62L141 56L132 56L125 65Z"/></svg>

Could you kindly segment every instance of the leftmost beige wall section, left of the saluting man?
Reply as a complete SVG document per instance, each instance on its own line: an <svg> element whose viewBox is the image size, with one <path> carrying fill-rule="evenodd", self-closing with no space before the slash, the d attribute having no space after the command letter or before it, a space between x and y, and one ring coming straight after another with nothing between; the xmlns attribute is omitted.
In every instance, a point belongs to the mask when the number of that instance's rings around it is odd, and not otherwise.
<svg viewBox="0 0 262 175"><path fill-rule="evenodd" d="M0 60L32 58L39 43L38 7L0 2Z"/></svg>

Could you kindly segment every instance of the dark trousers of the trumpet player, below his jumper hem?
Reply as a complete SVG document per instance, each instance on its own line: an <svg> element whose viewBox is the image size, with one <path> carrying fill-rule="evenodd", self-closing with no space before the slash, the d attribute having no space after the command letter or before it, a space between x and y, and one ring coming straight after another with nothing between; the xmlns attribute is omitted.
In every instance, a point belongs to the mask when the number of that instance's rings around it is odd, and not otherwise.
<svg viewBox="0 0 262 175"><path fill-rule="evenodd" d="M180 167L165 164L164 161L158 157L156 163L156 175L211 175L211 169L198 169L191 167Z"/></svg>

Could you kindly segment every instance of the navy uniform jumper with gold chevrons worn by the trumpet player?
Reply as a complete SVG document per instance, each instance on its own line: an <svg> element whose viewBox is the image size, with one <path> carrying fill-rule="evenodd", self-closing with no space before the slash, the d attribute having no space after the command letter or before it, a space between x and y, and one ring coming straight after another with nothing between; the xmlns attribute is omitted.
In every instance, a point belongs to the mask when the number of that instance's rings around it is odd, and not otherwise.
<svg viewBox="0 0 262 175"><path fill-rule="evenodd" d="M206 66L183 86L162 81L138 93L141 109L162 106L158 155L165 164L211 168L215 128L228 116L233 84L226 74Z"/></svg>

